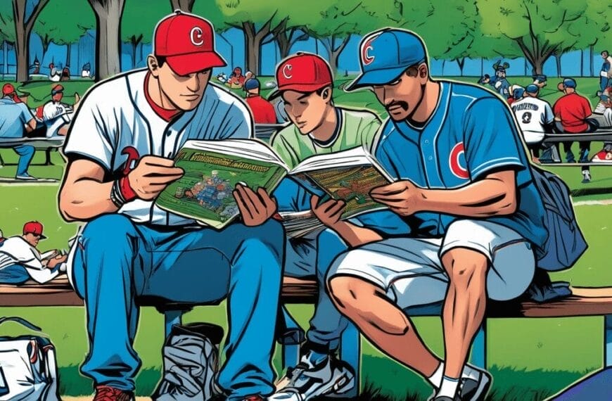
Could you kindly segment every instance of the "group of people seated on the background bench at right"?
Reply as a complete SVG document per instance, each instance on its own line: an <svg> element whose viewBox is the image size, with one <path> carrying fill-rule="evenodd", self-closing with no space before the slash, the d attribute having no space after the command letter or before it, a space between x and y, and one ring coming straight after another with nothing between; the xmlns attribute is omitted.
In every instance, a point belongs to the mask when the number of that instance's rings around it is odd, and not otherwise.
<svg viewBox="0 0 612 401"><path fill-rule="evenodd" d="M604 62L599 73L599 103L592 110L589 100L576 91L578 83L571 77L559 82L557 89L563 92L554 105L540 98L547 85L547 76L533 75L533 83L522 87L510 84L506 79L509 63L497 61L493 65L495 75L485 74L478 83L490 85L506 99L523 132L531 157L536 163L560 162L558 144L547 144L545 134L585 134L598 129L612 129L612 57L608 51L601 52ZM576 163L572 151L573 141L561 142L566 163ZM605 142L601 151L589 158L590 141L578 141L582 183L591 182L589 163L612 163L612 142ZM540 156L540 151L543 151Z"/></svg>

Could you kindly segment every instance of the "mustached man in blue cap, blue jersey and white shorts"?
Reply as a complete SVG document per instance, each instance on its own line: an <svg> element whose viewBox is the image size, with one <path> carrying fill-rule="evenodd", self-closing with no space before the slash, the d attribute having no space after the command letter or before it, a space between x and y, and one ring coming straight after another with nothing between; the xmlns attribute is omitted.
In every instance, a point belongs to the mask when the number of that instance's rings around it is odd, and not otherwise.
<svg viewBox="0 0 612 401"><path fill-rule="evenodd" d="M490 376L466 357L487 296L521 295L547 238L525 149L499 97L431 79L416 34L380 30L361 46L349 90L371 87L388 111L375 156L396 179L371 196L409 229L387 236L373 222L338 220L341 205L315 206L352 247L330 267L332 298L378 348L428 378L435 401L484 400ZM409 307L432 303L443 303L444 361L407 318Z"/></svg>

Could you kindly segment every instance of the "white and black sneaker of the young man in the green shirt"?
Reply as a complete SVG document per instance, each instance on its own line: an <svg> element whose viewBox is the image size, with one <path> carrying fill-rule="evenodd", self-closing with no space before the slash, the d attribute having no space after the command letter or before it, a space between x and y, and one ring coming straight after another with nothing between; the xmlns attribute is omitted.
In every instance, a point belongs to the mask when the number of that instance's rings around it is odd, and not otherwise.
<svg viewBox="0 0 612 401"><path fill-rule="evenodd" d="M355 374L346 362L329 355L313 364L311 355L308 352L298 366L287 369L276 393L267 398L269 401L308 401L321 395L346 393L355 386Z"/></svg>

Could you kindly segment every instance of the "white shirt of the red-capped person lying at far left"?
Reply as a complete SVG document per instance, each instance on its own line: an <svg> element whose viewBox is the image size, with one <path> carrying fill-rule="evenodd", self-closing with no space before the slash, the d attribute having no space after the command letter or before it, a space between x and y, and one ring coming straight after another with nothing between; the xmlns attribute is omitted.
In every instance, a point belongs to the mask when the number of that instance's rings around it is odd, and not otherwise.
<svg viewBox="0 0 612 401"><path fill-rule="evenodd" d="M22 265L30 277L39 283L54 279L58 269L47 269L42 265L42 256L37 248L27 243L21 236L6 238L0 246L0 269L11 265Z"/></svg>

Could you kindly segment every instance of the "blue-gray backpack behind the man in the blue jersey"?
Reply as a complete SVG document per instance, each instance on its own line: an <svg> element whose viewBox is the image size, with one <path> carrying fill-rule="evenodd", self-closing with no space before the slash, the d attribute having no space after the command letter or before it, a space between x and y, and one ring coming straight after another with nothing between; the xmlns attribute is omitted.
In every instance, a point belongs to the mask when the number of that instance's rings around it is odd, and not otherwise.
<svg viewBox="0 0 612 401"><path fill-rule="evenodd" d="M587 242L578 227L570 189L561 178L534 165L533 180L544 203L544 226L548 238L536 248L536 266L549 272L568 269L587 250Z"/></svg>

